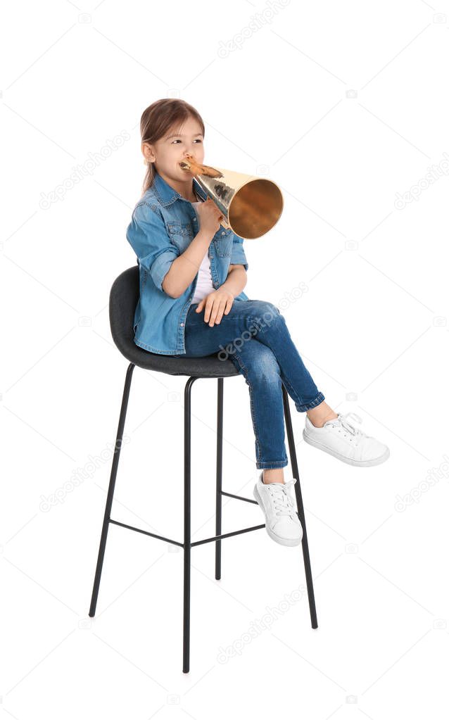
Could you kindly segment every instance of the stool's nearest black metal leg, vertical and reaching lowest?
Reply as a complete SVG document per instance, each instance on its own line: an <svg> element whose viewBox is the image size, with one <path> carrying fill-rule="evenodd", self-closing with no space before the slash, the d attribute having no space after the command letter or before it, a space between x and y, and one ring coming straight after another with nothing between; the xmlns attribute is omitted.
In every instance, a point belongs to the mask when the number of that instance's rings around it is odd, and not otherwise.
<svg viewBox="0 0 449 720"><path fill-rule="evenodd" d="M189 377L184 389L184 602L183 602L183 672L190 670L190 446L191 446L191 386L196 377Z"/></svg>

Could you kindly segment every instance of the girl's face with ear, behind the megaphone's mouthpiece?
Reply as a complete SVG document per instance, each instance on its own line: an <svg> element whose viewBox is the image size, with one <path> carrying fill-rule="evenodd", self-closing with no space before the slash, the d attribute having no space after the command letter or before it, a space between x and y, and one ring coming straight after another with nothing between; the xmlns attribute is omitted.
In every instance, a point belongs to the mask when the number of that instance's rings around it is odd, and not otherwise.
<svg viewBox="0 0 449 720"><path fill-rule="evenodd" d="M176 134L176 133L179 134ZM191 186L193 175L179 166L187 155L197 162L204 161L204 137L201 127L193 117L188 117L182 127L171 128L154 145L142 145L145 158L155 163L155 169L167 181L175 184L186 182Z"/></svg>

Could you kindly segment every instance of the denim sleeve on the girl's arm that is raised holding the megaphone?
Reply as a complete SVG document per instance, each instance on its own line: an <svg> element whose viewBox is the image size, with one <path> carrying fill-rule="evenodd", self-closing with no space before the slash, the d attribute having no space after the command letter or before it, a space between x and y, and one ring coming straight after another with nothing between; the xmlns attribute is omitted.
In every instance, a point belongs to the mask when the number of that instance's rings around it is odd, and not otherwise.
<svg viewBox="0 0 449 720"><path fill-rule="evenodd" d="M146 203L137 205L132 213L126 235L140 266L150 273L155 286L165 294L162 287L163 279L170 270L173 260L179 256L179 252L171 243L158 211L153 210Z"/></svg>

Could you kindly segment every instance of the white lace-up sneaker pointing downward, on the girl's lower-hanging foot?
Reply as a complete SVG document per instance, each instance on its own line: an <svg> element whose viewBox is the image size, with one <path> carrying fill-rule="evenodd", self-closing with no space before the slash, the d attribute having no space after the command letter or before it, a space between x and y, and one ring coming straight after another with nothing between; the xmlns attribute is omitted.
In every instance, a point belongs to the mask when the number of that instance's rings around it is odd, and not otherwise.
<svg viewBox="0 0 449 720"><path fill-rule="evenodd" d="M299 545L302 539L302 527L287 492L296 482L263 482L263 470L254 486L254 497L266 517L266 531L272 540L281 545Z"/></svg>

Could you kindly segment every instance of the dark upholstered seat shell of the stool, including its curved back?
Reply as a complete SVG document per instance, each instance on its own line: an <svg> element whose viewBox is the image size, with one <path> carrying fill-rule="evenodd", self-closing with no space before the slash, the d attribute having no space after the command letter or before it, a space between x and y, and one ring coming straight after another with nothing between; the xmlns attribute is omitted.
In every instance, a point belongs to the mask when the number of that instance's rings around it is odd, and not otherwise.
<svg viewBox="0 0 449 720"><path fill-rule="evenodd" d="M158 355L143 350L134 341L134 312L139 300L139 268L128 268L117 277L109 295L109 320L114 343L127 360L146 370L189 377L231 377L240 374L231 360L220 360L218 352L202 358Z"/></svg>

